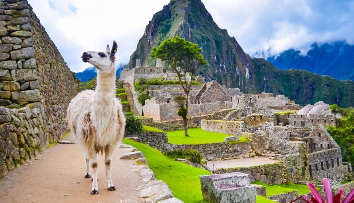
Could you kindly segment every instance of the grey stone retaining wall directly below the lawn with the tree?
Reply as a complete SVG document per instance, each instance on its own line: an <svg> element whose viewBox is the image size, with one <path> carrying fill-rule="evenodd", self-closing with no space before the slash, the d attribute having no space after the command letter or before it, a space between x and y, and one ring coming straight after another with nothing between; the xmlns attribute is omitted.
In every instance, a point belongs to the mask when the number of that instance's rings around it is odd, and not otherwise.
<svg viewBox="0 0 354 203"><path fill-rule="evenodd" d="M228 160L236 158L248 158L255 156L256 153L252 149L251 142L239 142L237 144L229 144L226 142L201 144L201 145L176 145L171 144L173 150L189 150L199 151L206 160Z"/></svg>

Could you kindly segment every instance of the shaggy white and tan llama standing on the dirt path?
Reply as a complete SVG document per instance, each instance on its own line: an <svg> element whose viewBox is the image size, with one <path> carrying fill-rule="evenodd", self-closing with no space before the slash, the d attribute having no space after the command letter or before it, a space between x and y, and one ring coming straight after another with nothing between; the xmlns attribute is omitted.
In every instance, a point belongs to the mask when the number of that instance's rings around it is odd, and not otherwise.
<svg viewBox="0 0 354 203"><path fill-rule="evenodd" d="M92 174L91 194L98 194L97 154L105 153L108 190L115 190L110 163L112 154L124 136L125 117L120 101L115 98L115 52L117 43L113 41L112 51L107 45L106 52L87 51L81 56L82 61L89 62L97 68L96 90L80 92L70 102L67 119L71 133L84 150L86 159L85 178Z"/></svg>

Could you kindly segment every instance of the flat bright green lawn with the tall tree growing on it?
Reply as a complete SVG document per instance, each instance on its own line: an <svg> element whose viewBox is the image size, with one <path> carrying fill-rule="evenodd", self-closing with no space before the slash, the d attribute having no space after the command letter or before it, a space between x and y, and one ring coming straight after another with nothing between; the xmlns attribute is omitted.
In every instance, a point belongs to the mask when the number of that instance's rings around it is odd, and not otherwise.
<svg viewBox="0 0 354 203"><path fill-rule="evenodd" d="M230 137L232 135L204 131L201 128L190 128L188 129L188 135L190 137L184 136L184 130L168 131L169 142L173 144L185 144L185 145L198 145L207 143L224 142L225 137ZM238 142L247 142L246 137L240 137Z"/></svg>

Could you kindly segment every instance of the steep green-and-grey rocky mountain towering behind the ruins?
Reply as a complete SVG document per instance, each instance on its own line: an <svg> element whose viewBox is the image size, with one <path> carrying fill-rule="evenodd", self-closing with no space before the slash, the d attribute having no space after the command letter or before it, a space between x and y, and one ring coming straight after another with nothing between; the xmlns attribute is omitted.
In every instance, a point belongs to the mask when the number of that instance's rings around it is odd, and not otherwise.
<svg viewBox="0 0 354 203"><path fill-rule="evenodd" d="M281 71L264 59L252 59L227 30L217 26L200 0L171 0L155 13L128 66L135 67L137 58L142 64L154 65L152 47L175 35L202 48L208 64L197 74L207 81L217 80L244 93L285 94L300 105L321 100L342 107L354 106L350 99L354 96L353 81L337 81L306 71Z"/></svg>

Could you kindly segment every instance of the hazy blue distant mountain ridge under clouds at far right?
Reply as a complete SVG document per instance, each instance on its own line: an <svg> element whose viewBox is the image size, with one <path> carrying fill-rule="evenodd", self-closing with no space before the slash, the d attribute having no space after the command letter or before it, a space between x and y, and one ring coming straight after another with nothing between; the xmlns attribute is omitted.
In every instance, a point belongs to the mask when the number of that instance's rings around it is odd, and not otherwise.
<svg viewBox="0 0 354 203"><path fill-rule="evenodd" d="M267 60L282 70L302 69L338 80L354 80L354 45L344 41L322 45L315 43L306 55L290 49Z"/></svg>

